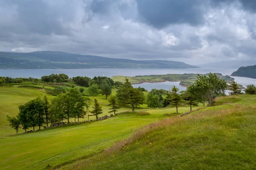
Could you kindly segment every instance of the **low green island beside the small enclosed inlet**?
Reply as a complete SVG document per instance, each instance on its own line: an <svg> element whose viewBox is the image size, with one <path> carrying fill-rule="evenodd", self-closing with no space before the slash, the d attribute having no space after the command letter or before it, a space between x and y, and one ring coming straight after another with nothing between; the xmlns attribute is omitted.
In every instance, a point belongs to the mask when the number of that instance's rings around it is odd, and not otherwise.
<svg viewBox="0 0 256 170"><path fill-rule="evenodd" d="M215 73L218 78L224 79L227 83L234 81L234 78L228 75L222 75L221 73ZM202 75L202 74L200 74ZM208 75L208 74L206 74ZM197 79L197 74L167 74L167 75L137 75L134 77L128 77L131 84L142 84L142 83L159 83L166 81L180 81L180 86L190 86ZM125 76L116 75L112 77L113 81L125 81Z"/></svg>

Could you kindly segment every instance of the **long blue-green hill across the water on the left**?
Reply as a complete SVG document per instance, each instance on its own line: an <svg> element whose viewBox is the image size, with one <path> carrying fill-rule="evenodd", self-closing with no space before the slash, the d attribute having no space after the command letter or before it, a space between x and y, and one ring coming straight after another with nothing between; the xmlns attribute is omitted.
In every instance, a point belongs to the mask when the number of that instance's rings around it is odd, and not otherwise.
<svg viewBox="0 0 256 170"><path fill-rule="evenodd" d="M199 67L178 61L137 61L55 51L38 51L28 53L0 52L0 69L87 68L189 69Z"/></svg>

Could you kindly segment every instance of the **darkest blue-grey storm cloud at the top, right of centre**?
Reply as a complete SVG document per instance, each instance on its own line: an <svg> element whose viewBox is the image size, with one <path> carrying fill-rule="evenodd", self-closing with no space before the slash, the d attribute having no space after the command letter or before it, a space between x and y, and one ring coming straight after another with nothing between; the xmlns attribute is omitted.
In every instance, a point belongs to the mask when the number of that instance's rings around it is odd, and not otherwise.
<svg viewBox="0 0 256 170"><path fill-rule="evenodd" d="M143 21L163 28L172 23L203 23L205 3L202 0L137 0L137 8Z"/></svg>

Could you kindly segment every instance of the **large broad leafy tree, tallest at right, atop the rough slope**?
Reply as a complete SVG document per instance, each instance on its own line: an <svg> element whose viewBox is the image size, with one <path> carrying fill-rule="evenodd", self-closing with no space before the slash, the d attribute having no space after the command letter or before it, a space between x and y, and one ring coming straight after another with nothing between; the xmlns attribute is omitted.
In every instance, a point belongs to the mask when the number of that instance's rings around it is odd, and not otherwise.
<svg viewBox="0 0 256 170"><path fill-rule="evenodd" d="M214 73L206 75L199 75L194 84L191 85L191 93L197 95L203 101L207 101L208 105L212 105L214 97L225 95L224 92L227 89L227 83L224 80L220 80Z"/></svg>

